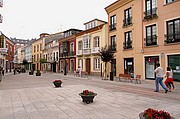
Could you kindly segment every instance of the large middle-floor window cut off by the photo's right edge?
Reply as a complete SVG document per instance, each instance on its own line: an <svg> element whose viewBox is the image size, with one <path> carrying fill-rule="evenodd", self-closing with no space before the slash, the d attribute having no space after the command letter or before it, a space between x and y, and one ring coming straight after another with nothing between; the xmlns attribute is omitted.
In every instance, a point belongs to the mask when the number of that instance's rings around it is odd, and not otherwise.
<svg viewBox="0 0 180 119"><path fill-rule="evenodd" d="M180 42L180 18L167 21L167 43Z"/></svg>

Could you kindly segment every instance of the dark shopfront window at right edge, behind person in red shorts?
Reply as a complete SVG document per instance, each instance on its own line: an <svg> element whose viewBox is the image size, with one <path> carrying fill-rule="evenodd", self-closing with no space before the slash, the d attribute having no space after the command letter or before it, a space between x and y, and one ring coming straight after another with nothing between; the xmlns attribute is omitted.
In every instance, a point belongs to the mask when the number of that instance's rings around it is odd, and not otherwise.
<svg viewBox="0 0 180 119"><path fill-rule="evenodd" d="M175 81L180 81L180 54L168 55L168 66L172 68L173 78Z"/></svg>

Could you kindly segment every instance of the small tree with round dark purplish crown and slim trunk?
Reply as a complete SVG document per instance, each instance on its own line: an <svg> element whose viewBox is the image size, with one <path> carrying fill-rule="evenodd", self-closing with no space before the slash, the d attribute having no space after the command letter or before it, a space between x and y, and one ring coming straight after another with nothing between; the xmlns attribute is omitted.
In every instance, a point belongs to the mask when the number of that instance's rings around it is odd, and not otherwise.
<svg viewBox="0 0 180 119"><path fill-rule="evenodd" d="M100 56L101 56L101 60L103 62L105 62L105 70L104 70L104 75L105 75L105 79L107 79L107 63L111 62L112 59L114 59L114 52L112 52L111 46L107 46L105 45L104 47L101 48L101 50L99 51ZM103 77L104 77L103 75Z"/></svg>

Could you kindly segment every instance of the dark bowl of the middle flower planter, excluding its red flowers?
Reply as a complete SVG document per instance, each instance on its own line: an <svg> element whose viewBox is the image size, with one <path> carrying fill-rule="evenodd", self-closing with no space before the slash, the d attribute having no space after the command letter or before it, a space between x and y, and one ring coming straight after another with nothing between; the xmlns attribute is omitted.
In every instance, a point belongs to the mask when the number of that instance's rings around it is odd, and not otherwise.
<svg viewBox="0 0 180 119"><path fill-rule="evenodd" d="M94 97L97 95L94 93L93 95L83 95L82 93L79 94L82 98L82 101L89 104L93 102Z"/></svg>

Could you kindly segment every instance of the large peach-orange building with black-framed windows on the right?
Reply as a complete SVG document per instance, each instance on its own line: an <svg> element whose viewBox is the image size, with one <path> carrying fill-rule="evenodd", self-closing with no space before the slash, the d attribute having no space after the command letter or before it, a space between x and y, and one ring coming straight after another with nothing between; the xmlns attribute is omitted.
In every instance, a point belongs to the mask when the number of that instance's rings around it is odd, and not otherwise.
<svg viewBox="0 0 180 119"><path fill-rule="evenodd" d="M160 63L180 80L180 1L118 0L106 7L109 43L116 44L116 71L154 79Z"/></svg>

